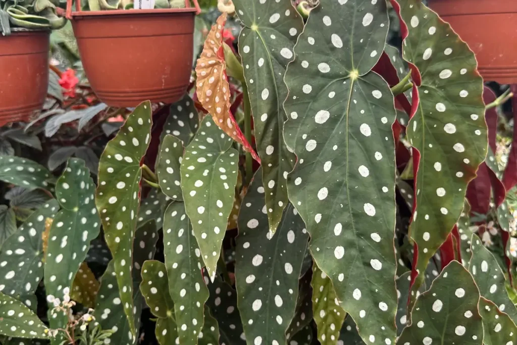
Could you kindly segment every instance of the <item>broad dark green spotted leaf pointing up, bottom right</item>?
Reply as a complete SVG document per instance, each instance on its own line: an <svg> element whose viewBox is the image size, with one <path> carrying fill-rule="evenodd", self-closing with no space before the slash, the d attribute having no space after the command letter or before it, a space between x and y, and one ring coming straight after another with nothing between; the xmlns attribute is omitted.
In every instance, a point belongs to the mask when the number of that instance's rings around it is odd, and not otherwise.
<svg viewBox="0 0 517 345"><path fill-rule="evenodd" d="M452 261L420 294L414 304L411 324L397 344L443 343L481 345L483 326L478 313L479 292L472 276L458 261Z"/></svg>

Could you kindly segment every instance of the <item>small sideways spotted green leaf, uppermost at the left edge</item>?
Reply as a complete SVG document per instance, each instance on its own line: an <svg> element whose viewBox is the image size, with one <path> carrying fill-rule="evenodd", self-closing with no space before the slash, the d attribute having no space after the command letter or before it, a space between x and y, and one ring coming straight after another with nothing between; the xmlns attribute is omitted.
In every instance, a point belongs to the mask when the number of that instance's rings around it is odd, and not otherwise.
<svg viewBox="0 0 517 345"><path fill-rule="evenodd" d="M15 156L0 156L0 180L27 189L49 189L50 172L40 164Z"/></svg>

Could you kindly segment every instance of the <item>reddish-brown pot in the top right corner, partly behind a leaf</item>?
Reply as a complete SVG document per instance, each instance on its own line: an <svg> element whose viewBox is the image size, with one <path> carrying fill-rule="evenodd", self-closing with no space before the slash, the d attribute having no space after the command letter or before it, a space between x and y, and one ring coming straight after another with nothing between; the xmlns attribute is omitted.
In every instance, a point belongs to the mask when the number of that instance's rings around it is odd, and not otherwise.
<svg viewBox="0 0 517 345"><path fill-rule="evenodd" d="M476 54L485 81L517 83L516 0L429 0Z"/></svg>

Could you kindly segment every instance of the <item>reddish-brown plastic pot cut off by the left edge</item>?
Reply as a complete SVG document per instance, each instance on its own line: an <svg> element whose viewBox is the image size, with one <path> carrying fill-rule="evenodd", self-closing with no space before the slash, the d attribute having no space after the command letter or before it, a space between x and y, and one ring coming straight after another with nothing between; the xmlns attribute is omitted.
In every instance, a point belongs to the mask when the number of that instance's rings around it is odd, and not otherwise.
<svg viewBox="0 0 517 345"><path fill-rule="evenodd" d="M49 85L50 30L0 35L0 127L41 109Z"/></svg>

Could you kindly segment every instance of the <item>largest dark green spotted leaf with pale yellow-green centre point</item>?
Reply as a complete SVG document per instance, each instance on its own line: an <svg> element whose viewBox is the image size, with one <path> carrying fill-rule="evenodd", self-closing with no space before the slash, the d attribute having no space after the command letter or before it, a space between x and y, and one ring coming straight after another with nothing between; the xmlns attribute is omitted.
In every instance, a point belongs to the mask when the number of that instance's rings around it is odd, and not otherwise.
<svg viewBox="0 0 517 345"><path fill-rule="evenodd" d="M320 1L285 74L284 139L298 157L287 190L315 263L363 339L394 341L396 113L388 85L371 72L387 32L384 2Z"/></svg>

